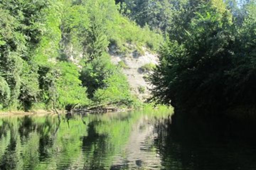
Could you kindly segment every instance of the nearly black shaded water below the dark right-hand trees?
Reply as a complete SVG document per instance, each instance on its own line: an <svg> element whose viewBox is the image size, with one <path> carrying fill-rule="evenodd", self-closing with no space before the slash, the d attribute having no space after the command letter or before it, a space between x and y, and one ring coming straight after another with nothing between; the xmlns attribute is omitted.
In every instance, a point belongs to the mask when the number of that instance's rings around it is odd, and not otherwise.
<svg viewBox="0 0 256 170"><path fill-rule="evenodd" d="M158 124L156 130L155 145L164 169L256 169L254 125L228 119L200 120L176 113L171 124Z"/></svg>

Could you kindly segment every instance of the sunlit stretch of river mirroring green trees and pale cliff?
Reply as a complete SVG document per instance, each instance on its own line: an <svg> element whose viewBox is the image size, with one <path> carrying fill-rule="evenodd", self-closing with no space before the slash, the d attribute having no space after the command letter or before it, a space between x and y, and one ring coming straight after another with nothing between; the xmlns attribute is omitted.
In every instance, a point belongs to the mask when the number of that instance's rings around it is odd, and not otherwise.
<svg viewBox="0 0 256 170"><path fill-rule="evenodd" d="M2 117L0 169L159 168L154 123L169 114Z"/></svg>

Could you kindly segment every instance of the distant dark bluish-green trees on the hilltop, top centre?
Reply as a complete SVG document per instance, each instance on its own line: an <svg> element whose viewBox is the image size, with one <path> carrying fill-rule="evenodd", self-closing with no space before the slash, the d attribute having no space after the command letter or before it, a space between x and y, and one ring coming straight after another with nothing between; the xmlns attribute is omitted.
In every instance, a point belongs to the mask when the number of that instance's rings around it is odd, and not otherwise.
<svg viewBox="0 0 256 170"><path fill-rule="evenodd" d="M116 0L120 12L137 22L156 31L167 31L175 13L187 0Z"/></svg>

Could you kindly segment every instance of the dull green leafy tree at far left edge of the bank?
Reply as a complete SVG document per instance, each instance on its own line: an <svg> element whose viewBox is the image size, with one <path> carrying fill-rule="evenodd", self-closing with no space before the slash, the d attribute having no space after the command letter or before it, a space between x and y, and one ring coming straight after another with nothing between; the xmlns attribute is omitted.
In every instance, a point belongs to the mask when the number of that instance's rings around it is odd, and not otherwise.
<svg viewBox="0 0 256 170"><path fill-rule="evenodd" d="M22 52L26 51L25 36L17 32L19 24L8 10L0 8L0 72L8 83L11 100L8 106L17 106L21 86Z"/></svg>

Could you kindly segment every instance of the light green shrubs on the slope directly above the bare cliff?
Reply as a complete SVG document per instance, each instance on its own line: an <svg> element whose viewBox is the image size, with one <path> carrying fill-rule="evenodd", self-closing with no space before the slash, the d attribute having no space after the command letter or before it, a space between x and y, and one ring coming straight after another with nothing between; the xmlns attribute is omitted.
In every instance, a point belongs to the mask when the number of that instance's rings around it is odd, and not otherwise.
<svg viewBox="0 0 256 170"><path fill-rule="evenodd" d="M152 51L158 51L163 37L161 34L155 33L148 26L139 27L135 22L131 22L127 17L114 12L111 20L106 22L106 32L108 39L114 40L120 52L129 51L125 44L133 44L134 49L143 54L142 47L148 46Z"/></svg>

